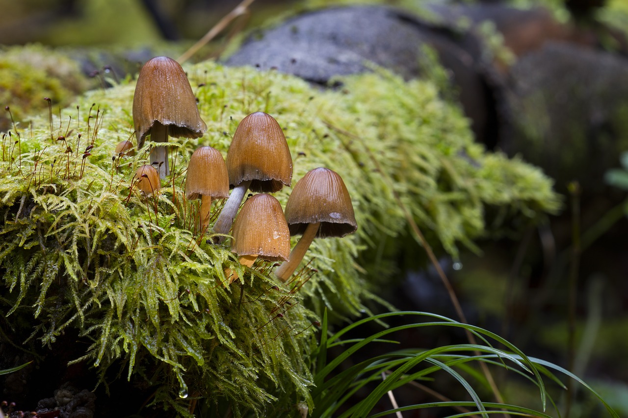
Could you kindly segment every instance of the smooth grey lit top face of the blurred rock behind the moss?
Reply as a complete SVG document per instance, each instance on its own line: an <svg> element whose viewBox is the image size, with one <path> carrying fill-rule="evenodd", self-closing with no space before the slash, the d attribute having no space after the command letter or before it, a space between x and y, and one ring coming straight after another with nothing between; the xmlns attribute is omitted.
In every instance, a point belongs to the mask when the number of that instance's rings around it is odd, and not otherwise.
<svg viewBox="0 0 628 418"><path fill-rule="evenodd" d="M417 19L395 9L323 9L254 34L227 63L275 67L321 84L335 75L363 72L366 62L416 77L420 45L430 36L427 26L418 25Z"/></svg>

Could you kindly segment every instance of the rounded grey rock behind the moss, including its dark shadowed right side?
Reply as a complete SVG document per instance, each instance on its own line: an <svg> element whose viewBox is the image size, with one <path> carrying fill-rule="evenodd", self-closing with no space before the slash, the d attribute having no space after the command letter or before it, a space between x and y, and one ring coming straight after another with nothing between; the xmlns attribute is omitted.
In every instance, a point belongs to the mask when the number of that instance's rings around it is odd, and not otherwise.
<svg viewBox="0 0 628 418"><path fill-rule="evenodd" d="M368 62L404 78L418 77L429 45L448 68L477 137L492 147L506 123L501 79L485 61L482 42L471 31L423 21L381 6L330 8L301 14L254 33L227 65L256 65L327 85L337 75L368 70Z"/></svg>

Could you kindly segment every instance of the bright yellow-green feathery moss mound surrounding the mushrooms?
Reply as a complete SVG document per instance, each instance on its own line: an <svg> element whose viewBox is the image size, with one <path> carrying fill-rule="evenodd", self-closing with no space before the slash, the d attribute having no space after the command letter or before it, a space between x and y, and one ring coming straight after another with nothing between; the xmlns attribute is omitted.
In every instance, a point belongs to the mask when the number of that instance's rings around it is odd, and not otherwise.
<svg viewBox="0 0 628 418"><path fill-rule="evenodd" d="M314 406L311 324L325 306L337 318L379 301L378 283L395 272L385 255L409 242L366 149L430 244L453 256L496 232L499 220L531 220L560 204L541 171L476 144L460 109L429 80L381 71L321 91L253 68L205 62L185 70L207 131L170 138L159 193L138 185L149 178L137 176L148 147L116 151L133 139L132 81L16 121L2 135L0 162L3 332L41 353L60 349L57 339L72 330L82 343L63 347L75 350L73 362L103 379L113 366L134 382L160 382L154 401L178 414L190 415L186 395L229 404L236 416ZM314 168L336 171L359 225L344 238L314 240L288 284L274 277L273 262L245 267L226 244L208 244L224 201L210 206L203 235L202 205L185 193L193 151L211 146L229 158L239 121L259 110L273 115L290 147L289 182ZM290 191L273 192L282 207ZM239 280L229 284L225 271Z"/></svg>

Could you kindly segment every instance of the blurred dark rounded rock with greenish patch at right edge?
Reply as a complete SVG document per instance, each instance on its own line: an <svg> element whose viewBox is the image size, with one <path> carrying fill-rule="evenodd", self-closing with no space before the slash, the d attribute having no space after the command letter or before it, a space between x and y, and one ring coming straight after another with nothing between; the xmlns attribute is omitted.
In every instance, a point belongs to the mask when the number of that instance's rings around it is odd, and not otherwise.
<svg viewBox="0 0 628 418"><path fill-rule="evenodd" d="M559 188L603 183L628 149L628 60L605 51L549 42L511 68L516 135L504 143L542 166Z"/></svg>

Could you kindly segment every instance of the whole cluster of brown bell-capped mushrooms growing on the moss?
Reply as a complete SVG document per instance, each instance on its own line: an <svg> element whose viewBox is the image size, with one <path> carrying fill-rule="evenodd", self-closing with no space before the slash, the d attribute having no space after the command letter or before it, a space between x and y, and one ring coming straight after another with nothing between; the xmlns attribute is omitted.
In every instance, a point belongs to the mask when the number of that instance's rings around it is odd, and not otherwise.
<svg viewBox="0 0 628 418"><path fill-rule="evenodd" d="M157 56L141 68L133 123L138 149L147 136L152 142L150 164L137 169L136 185L145 195L159 193L161 179L170 175L168 137L198 138L207 130L187 75L175 60ZM122 141L116 148L116 154L121 153L133 154L133 144ZM275 275L285 282L314 238L344 237L357 229L349 192L337 173L328 168L308 171L297 181L284 212L269 193L290 186L291 180L292 158L281 127L271 115L255 112L237 126L226 163L213 147L201 146L193 152L185 195L201 200L197 217L201 234L209 227L212 200L227 198L212 227L211 242L223 242L233 227L231 250L239 262L251 267L257 258L281 261ZM230 194L229 189L233 189ZM238 213L247 190L257 194ZM302 235L292 251L291 235ZM237 274L227 271L227 277L234 281Z"/></svg>

